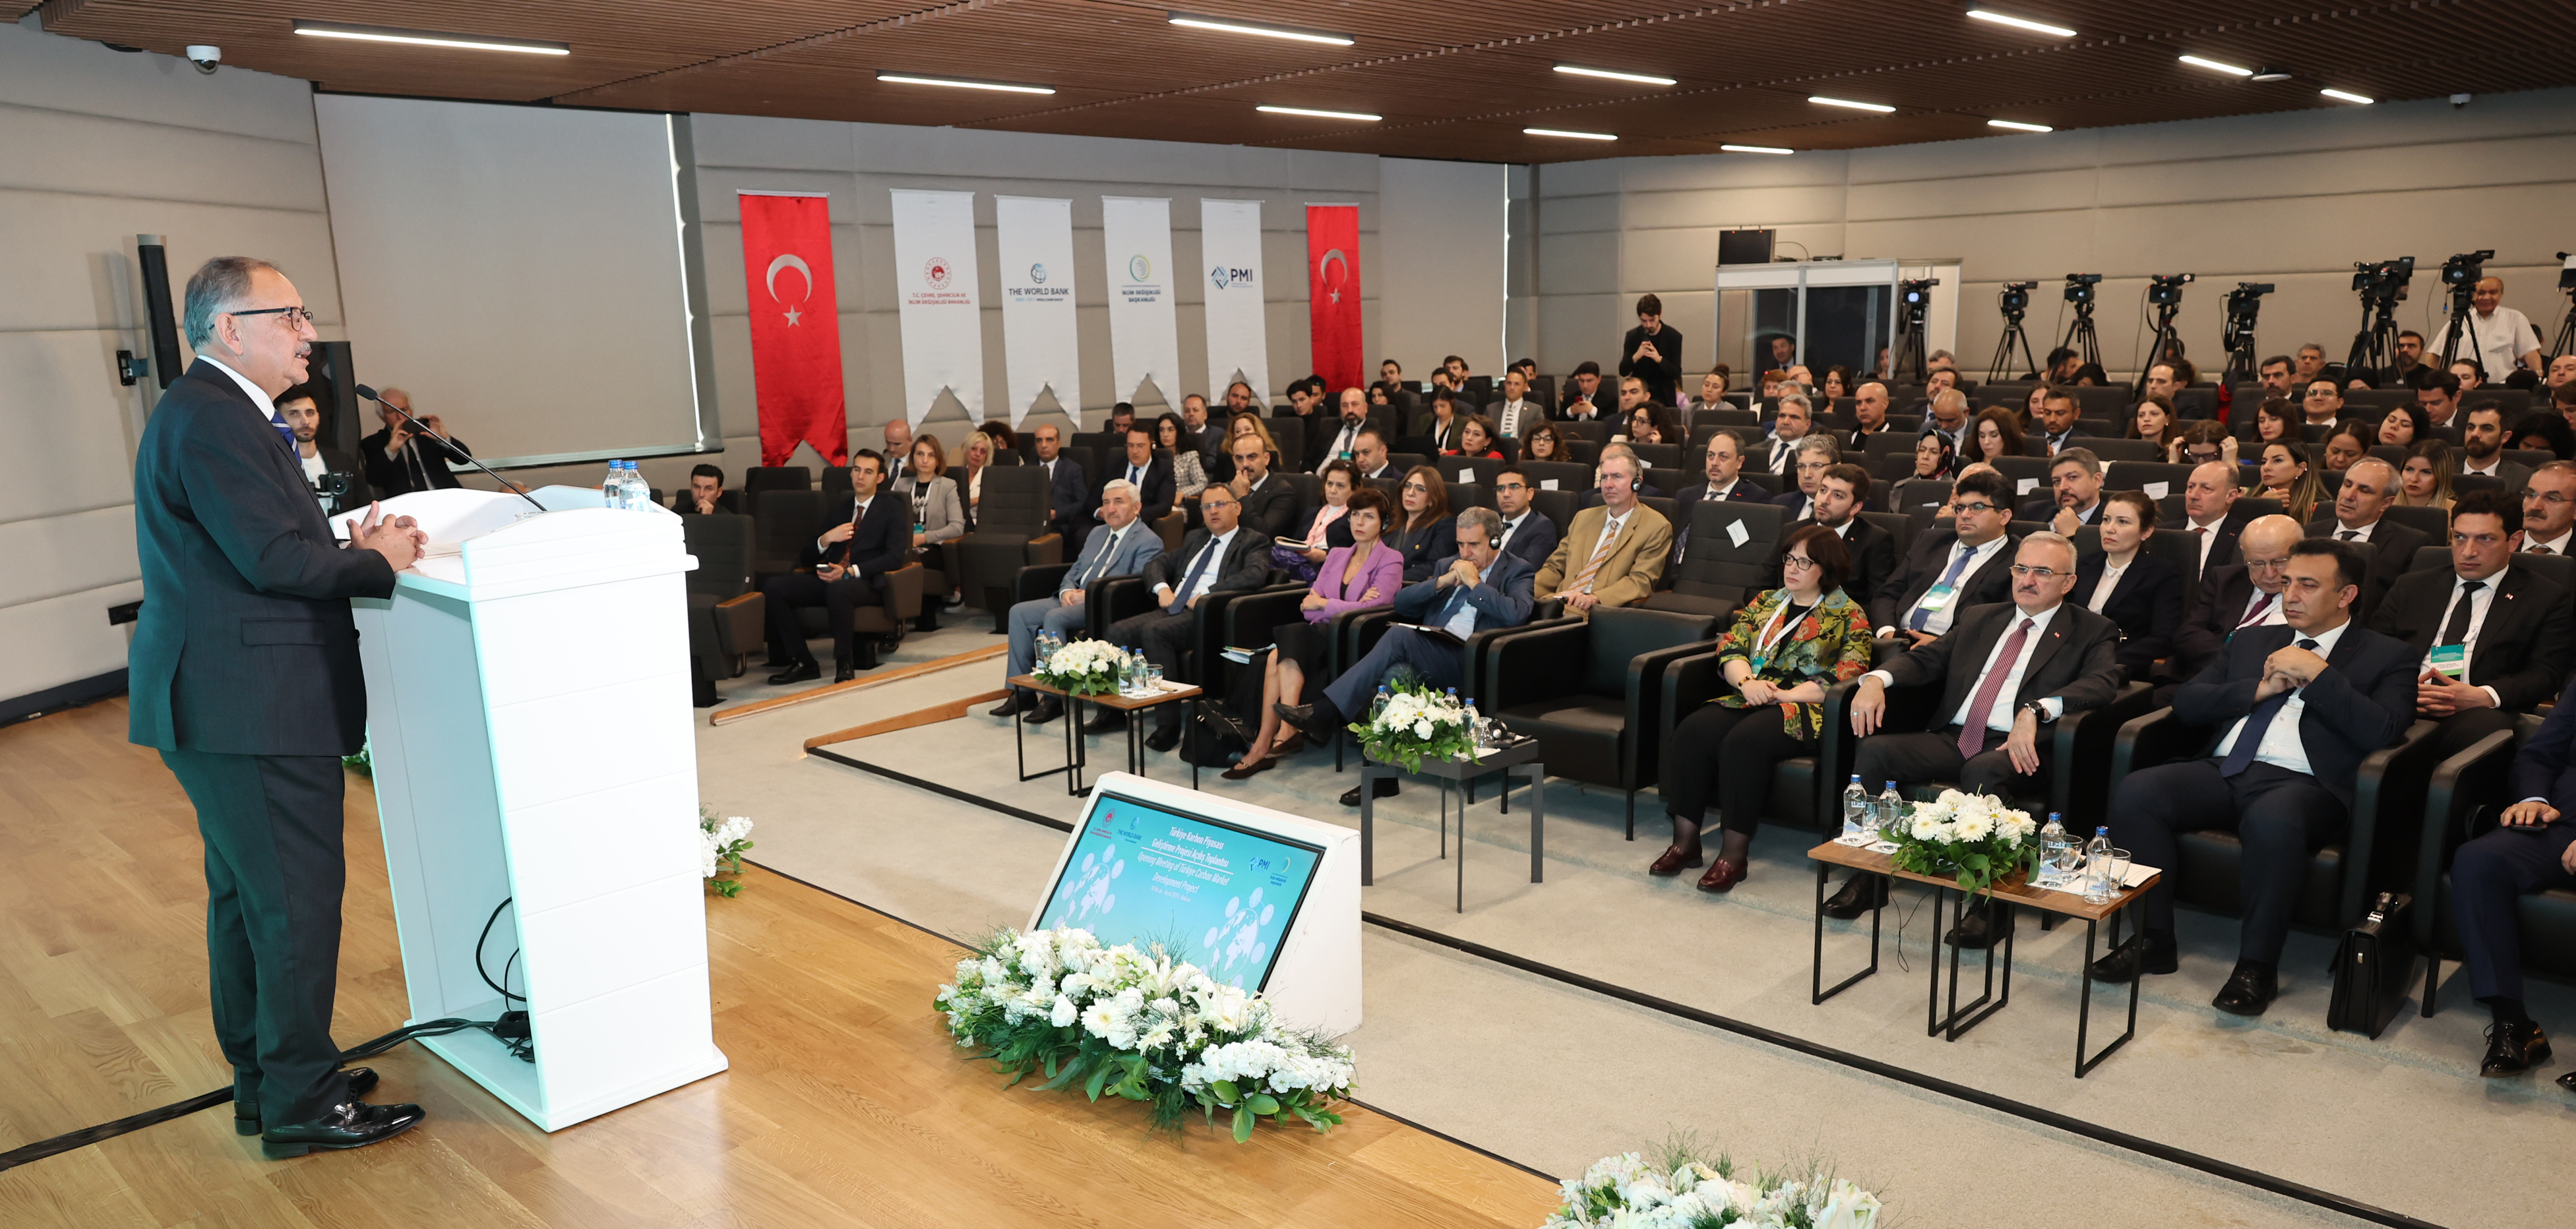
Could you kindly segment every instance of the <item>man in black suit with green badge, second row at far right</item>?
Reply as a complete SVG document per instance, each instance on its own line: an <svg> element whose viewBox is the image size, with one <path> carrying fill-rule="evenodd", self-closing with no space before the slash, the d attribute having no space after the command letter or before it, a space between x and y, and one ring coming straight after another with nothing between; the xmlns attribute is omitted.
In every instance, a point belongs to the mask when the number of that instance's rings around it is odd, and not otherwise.
<svg viewBox="0 0 2576 1229"><path fill-rule="evenodd" d="M2416 654L2416 716L2439 721L2439 757L2514 729L2568 678L2576 616L2568 590L2512 567L2522 500L2473 490L2450 505L2450 567L2406 572L2370 629Z"/></svg>

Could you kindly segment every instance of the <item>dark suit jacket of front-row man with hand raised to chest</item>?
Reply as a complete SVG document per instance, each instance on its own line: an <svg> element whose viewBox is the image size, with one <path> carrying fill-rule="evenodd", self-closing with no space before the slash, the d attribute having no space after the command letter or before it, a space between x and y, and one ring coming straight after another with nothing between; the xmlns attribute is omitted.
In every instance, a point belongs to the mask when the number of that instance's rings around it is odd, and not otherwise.
<svg viewBox="0 0 2576 1229"><path fill-rule="evenodd" d="M2218 755L2218 742L2239 716L2254 711L2264 657L2300 631L2290 626L2249 626L2210 662L2174 691L2174 716L2187 727L2208 727L2200 755ZM2362 757L2396 742L2414 724L2414 654L2403 642L2365 626L2347 626L2326 654L2326 670L2308 683L2298 716L2298 739L2318 786L2352 806L2352 778ZM2246 729L2246 737L2262 737Z"/></svg>

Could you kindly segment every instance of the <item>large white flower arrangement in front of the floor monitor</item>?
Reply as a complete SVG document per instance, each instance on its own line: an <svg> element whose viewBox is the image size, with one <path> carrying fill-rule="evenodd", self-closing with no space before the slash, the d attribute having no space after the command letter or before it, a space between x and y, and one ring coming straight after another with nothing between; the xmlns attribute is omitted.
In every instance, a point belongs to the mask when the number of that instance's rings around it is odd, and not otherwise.
<svg viewBox="0 0 2576 1229"><path fill-rule="evenodd" d="M1234 1141L1260 1118L1340 1126L1350 1049L1293 1031L1270 1002L1128 943L1103 948L1090 930L1002 930L958 961L935 1005L958 1046L992 1059L1018 1085L1082 1087L1154 1105L1177 1129L1190 1108L1234 1113Z"/></svg>

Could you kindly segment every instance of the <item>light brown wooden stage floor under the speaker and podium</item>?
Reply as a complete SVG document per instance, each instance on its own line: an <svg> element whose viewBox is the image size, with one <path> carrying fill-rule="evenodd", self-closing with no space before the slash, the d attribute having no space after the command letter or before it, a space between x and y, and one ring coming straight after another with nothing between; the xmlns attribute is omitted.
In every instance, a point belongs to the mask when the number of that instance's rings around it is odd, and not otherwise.
<svg viewBox="0 0 2576 1229"><path fill-rule="evenodd" d="M124 734L121 701L0 729L0 1152L229 1082L196 819ZM374 794L350 786L340 1043L404 1015ZM0 1172L0 1226L1535 1226L1556 1203L1358 1108L1236 1147L1005 1090L930 1010L956 948L778 876L711 899L708 938L732 1072L546 1136L402 1046L374 1062L379 1100L430 1110L402 1139L268 1162L219 1105Z"/></svg>

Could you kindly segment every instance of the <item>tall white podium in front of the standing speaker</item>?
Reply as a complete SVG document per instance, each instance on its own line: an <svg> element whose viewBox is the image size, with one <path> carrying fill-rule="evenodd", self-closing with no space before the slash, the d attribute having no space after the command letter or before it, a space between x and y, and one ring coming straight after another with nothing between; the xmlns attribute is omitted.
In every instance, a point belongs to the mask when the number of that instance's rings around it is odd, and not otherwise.
<svg viewBox="0 0 2576 1229"><path fill-rule="evenodd" d="M549 513L471 490L386 500L453 554L353 605L412 1023L497 1018L484 977L515 951L536 1062L482 1031L422 1046L559 1131L726 1062L680 580L696 559L667 510L536 497Z"/></svg>

